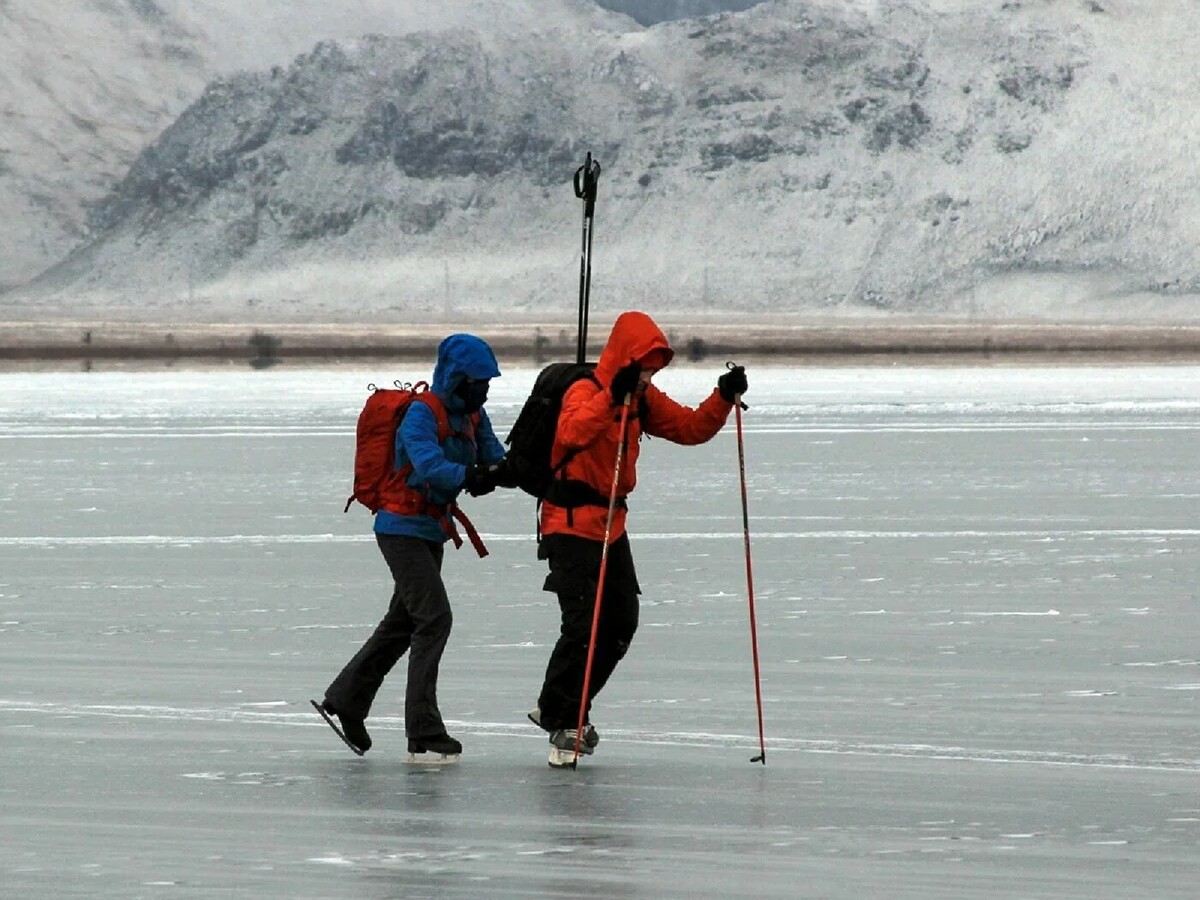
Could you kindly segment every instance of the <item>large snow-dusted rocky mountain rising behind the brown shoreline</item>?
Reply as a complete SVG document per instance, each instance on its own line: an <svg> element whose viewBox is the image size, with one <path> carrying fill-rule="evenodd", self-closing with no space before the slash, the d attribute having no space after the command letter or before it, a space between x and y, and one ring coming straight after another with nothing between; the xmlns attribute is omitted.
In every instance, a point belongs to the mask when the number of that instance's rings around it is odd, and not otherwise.
<svg viewBox="0 0 1200 900"><path fill-rule="evenodd" d="M569 312L590 150L614 308L1194 317L1196 26L1154 0L779 0L326 41L210 84L0 308Z"/></svg>

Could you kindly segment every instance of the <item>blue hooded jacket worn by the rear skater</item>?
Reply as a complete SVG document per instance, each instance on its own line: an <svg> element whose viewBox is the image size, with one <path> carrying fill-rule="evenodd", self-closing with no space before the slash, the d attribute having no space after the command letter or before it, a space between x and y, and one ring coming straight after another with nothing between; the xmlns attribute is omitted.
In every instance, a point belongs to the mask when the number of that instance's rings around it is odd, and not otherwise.
<svg viewBox="0 0 1200 900"><path fill-rule="evenodd" d="M498 378L500 367L486 341L474 335L450 335L438 347L438 364L433 370L430 390L438 395L450 416L450 427L462 431L467 425L463 401L455 389L464 378L481 380ZM438 443L438 422L433 410L424 403L413 403L396 431L396 468L413 463L409 487L425 492L430 503L449 505L462 491L467 467L476 462L492 464L504 456L504 445L492 430L485 409L479 410L475 443L451 434ZM436 518L426 515L401 516L379 510L374 517L378 534L403 534L427 541L446 541L446 533Z"/></svg>

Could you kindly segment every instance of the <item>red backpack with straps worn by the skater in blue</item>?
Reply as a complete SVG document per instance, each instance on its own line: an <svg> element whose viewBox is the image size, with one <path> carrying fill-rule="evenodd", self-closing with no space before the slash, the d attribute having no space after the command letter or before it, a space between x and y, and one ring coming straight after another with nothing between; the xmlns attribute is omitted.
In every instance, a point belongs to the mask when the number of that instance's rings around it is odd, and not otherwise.
<svg viewBox="0 0 1200 900"><path fill-rule="evenodd" d="M463 523L480 556L486 554L487 551L482 548L478 533L457 504L445 509L427 503L421 492L408 486L413 464L409 463L401 469L395 469L396 430L414 402L425 403L433 412L433 418L438 424L438 443L445 442L456 432L450 425L450 416L446 414L442 398L430 390L426 382L412 385L400 382L394 382L394 384L395 388L367 385L371 394L366 403L362 404L362 412L359 413L359 424L355 428L354 491L346 498L346 506L342 511L349 512L350 504L358 500L371 510L372 515L385 506L402 515L425 512L442 523L443 529L457 547L462 545L462 539L450 521L452 516ZM467 430L462 432L463 437L474 440L478 419L478 415L468 418Z"/></svg>

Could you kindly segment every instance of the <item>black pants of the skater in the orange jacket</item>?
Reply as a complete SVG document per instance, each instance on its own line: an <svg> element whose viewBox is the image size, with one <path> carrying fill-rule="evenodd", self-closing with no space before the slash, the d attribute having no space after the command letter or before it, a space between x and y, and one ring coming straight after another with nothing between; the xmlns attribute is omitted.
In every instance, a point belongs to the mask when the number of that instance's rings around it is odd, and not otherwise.
<svg viewBox="0 0 1200 900"><path fill-rule="evenodd" d="M538 550L538 556L550 562L550 575L544 587L558 595L563 614L562 630L550 654L546 680L538 698L541 725L547 731L578 725L602 550L600 541L566 534L547 535ZM600 625L588 682L588 720L592 701L608 682L637 631L640 593L629 536L623 534L608 545Z"/></svg>

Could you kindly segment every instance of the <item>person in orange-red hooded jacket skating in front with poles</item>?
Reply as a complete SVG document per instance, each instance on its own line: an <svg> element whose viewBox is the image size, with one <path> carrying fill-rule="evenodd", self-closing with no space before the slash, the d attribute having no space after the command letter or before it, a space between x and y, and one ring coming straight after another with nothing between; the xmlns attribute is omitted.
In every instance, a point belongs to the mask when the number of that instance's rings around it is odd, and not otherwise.
<svg viewBox="0 0 1200 900"><path fill-rule="evenodd" d="M576 754L608 494L626 397L631 402L588 684L588 724L580 754L590 754L599 743L590 725L592 701L637 630L641 588L625 533L625 498L637 485L640 438L646 433L676 444L703 444L721 430L734 400L746 390L745 370L738 366L718 379L716 388L697 408L683 406L652 383L673 355L662 330L649 316L624 312L612 326L593 378L580 379L563 397L551 452L556 481L541 504L542 536L538 545L538 558L550 564L544 589L558 595L562 630L546 666L538 706L529 713L532 721L550 732L552 766L570 764Z"/></svg>

